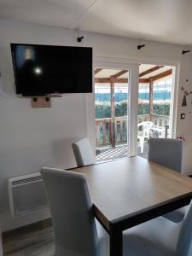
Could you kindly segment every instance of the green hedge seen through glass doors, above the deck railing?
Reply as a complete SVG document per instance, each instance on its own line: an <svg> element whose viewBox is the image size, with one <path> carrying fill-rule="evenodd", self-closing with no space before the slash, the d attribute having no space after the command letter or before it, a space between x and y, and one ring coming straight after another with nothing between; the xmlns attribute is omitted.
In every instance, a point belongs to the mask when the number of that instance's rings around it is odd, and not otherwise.
<svg viewBox="0 0 192 256"><path fill-rule="evenodd" d="M169 103L154 103L154 114L169 115ZM138 114L149 114L149 104L139 103ZM115 116L127 115L127 102L115 103ZM111 103L110 102L96 102L96 119L110 118L111 117Z"/></svg>

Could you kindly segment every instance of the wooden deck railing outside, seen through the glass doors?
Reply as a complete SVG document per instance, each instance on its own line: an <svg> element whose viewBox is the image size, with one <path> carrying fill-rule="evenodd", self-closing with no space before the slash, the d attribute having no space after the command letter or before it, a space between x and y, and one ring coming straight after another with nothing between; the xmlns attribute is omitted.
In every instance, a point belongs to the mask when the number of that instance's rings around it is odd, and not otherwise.
<svg viewBox="0 0 192 256"><path fill-rule="evenodd" d="M127 116L115 117L115 141L116 144L127 142ZM138 115L138 123L149 121L149 114ZM169 125L169 116L153 115L154 125L167 127ZM112 142L111 118L96 119L96 147L107 146Z"/></svg>

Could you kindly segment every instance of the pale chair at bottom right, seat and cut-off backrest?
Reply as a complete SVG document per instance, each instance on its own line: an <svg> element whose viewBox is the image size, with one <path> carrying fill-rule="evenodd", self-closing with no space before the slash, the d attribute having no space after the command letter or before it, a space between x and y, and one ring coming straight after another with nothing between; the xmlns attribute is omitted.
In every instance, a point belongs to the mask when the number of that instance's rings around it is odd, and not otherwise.
<svg viewBox="0 0 192 256"><path fill-rule="evenodd" d="M124 249L127 256L191 256L192 203L180 223L160 217L127 230Z"/></svg>

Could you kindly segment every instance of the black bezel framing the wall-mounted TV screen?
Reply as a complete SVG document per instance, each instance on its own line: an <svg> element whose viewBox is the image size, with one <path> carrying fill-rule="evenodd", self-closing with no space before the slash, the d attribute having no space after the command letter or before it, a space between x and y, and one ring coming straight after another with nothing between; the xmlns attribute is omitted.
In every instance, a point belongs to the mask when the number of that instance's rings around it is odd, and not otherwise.
<svg viewBox="0 0 192 256"><path fill-rule="evenodd" d="M51 96L51 95L61 95L61 94L74 94L74 93L92 93L93 92L93 80L91 83L91 87L90 90L87 91L75 91L75 92L64 92L64 91L54 91L54 92L45 92L45 93L34 93L34 91L32 91L32 93L18 93L17 90L17 75L16 75L16 67L15 67L15 57L14 57L14 50L13 50L13 46L16 45L26 45L26 46L49 46L49 47L65 47L65 48L84 48L84 49L90 49L91 50L91 57L92 57L92 53L93 53L93 49L92 47L84 47L84 46L69 46L69 45L53 45L53 44L21 44L21 43L10 43L10 49L11 49L11 57L12 57L12 63L13 63L13 68L14 68L14 77L15 77L15 94L17 96ZM91 61L91 70L92 70L92 74L91 74L91 78L93 77L93 58Z"/></svg>

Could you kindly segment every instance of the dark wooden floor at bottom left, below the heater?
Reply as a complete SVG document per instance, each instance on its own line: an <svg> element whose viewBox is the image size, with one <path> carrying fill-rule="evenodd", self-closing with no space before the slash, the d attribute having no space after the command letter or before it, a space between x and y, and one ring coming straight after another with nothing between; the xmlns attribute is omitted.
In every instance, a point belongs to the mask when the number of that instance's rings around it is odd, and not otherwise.
<svg viewBox="0 0 192 256"><path fill-rule="evenodd" d="M32 224L3 236L3 256L55 256L51 224Z"/></svg>

